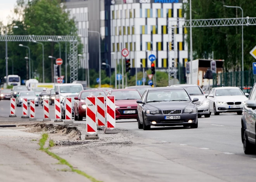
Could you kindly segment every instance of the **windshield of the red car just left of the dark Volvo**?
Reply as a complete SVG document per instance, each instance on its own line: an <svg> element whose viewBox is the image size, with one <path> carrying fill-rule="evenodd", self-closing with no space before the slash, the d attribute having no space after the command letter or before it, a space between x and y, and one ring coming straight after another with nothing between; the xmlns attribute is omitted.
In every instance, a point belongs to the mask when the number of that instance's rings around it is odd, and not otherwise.
<svg viewBox="0 0 256 182"><path fill-rule="evenodd" d="M112 92L116 100L141 99L139 92L136 90L120 90Z"/></svg>

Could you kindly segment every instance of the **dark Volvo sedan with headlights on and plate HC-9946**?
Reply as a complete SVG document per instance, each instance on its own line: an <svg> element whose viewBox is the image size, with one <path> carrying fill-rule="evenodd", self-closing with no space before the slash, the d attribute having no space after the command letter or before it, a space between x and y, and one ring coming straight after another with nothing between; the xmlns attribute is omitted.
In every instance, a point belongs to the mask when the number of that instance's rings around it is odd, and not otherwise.
<svg viewBox="0 0 256 182"><path fill-rule="evenodd" d="M181 87L156 87L147 89L138 103L138 128L150 126L184 126L197 128L197 106Z"/></svg>

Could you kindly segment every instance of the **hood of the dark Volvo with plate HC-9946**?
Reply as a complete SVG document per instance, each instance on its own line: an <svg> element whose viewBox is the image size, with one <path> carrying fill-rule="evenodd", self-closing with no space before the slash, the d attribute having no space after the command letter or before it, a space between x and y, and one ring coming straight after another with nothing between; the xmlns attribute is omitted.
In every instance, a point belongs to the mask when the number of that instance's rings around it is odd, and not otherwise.
<svg viewBox="0 0 256 182"><path fill-rule="evenodd" d="M147 109L173 110L184 109L185 107L194 108L195 105L191 102L185 101L171 101L171 102L150 102L145 105Z"/></svg>

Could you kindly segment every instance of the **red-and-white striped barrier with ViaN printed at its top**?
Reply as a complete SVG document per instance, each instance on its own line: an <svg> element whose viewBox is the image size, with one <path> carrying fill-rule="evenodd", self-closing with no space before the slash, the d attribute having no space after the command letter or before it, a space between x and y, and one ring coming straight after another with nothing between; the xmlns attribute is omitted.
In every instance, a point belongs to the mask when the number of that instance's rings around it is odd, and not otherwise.
<svg viewBox="0 0 256 182"><path fill-rule="evenodd" d="M96 123L96 97L94 95L86 97L86 132L95 134L97 132Z"/></svg>

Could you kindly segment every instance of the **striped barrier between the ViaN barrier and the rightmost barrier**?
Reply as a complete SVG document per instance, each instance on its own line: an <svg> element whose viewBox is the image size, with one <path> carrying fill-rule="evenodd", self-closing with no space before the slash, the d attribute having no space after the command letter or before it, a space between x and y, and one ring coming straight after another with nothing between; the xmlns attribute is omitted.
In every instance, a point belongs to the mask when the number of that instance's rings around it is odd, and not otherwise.
<svg viewBox="0 0 256 182"><path fill-rule="evenodd" d="M96 99L97 104L97 124L98 126L106 126L105 115L105 99L104 96L98 96Z"/></svg>

